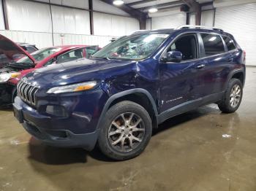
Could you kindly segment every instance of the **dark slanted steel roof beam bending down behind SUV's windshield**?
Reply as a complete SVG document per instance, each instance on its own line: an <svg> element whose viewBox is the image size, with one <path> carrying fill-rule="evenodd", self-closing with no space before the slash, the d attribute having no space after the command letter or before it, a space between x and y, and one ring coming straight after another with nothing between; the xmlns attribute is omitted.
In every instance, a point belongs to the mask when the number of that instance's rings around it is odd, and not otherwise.
<svg viewBox="0 0 256 191"><path fill-rule="evenodd" d="M100 0L107 4L111 4L113 6L113 0ZM140 30L146 29L146 13L140 12L139 10L133 9L132 7L129 7L127 4L122 4L118 6L119 9L123 10L124 12L127 12L132 17L135 17L140 22Z"/></svg>

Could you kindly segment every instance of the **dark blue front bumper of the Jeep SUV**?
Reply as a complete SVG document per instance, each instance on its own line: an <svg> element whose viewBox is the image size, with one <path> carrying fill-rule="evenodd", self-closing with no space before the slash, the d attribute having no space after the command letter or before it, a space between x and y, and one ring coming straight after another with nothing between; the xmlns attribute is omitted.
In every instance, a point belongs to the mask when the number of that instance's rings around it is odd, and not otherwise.
<svg viewBox="0 0 256 191"><path fill-rule="evenodd" d="M105 99L105 93L96 90L88 95L79 96L83 96L83 98L68 97L59 103L63 102L71 106L67 106L69 117L53 117L38 112L19 97L15 98L13 106L14 110L18 109L22 115L20 122L23 123L23 128L36 139L54 147L83 147L86 150L91 150L97 142L99 132L97 122L101 113L100 104L92 99L99 97L98 100ZM89 105L87 101L90 100L91 104ZM86 104L83 101L86 101ZM50 104L50 101L47 104Z"/></svg>

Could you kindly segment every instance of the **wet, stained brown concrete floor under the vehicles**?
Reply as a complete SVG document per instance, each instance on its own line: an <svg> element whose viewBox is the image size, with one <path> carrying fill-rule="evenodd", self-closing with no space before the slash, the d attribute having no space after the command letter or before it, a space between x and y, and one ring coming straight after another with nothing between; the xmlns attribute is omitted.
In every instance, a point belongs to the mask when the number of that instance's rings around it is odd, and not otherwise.
<svg viewBox="0 0 256 191"><path fill-rule="evenodd" d="M47 147L0 111L0 190L256 190L256 68L238 112L205 106L160 125L139 157ZM223 137L223 135L230 137Z"/></svg>

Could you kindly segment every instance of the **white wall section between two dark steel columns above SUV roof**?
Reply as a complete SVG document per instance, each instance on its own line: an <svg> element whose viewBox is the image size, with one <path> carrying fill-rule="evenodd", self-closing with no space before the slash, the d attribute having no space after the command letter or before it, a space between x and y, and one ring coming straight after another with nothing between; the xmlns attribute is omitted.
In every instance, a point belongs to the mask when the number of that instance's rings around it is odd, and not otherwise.
<svg viewBox="0 0 256 191"><path fill-rule="evenodd" d="M176 28L186 24L186 13L178 13L165 17L152 17L152 29Z"/></svg>

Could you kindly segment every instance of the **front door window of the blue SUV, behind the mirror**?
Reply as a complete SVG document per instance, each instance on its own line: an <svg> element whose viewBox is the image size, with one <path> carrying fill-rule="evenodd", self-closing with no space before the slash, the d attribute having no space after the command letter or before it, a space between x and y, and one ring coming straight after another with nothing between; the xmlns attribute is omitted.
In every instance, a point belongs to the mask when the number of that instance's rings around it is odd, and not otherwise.
<svg viewBox="0 0 256 191"><path fill-rule="evenodd" d="M182 53L182 61L197 58L197 39L195 34L185 34L170 45L167 52L179 51Z"/></svg>

